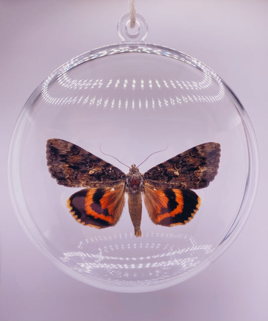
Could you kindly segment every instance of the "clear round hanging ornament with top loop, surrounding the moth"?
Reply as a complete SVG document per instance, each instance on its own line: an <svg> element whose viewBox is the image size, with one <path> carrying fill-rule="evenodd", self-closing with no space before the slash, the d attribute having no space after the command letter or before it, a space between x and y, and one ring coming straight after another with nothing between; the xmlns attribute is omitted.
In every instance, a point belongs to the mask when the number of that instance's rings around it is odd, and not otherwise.
<svg viewBox="0 0 268 321"><path fill-rule="evenodd" d="M68 275L119 292L175 285L217 259L241 231L258 177L253 129L231 89L197 59L144 43L147 25L140 15L135 28L123 16L122 43L71 59L40 84L22 109L9 157L13 204L31 239ZM143 204L137 238L127 204L114 227L75 222L66 200L81 188L51 177L51 138L76 144L126 173L124 164L139 164L164 149L140 171L207 142L221 145L221 157L215 179L195 190L202 205L191 222L155 225Z"/></svg>

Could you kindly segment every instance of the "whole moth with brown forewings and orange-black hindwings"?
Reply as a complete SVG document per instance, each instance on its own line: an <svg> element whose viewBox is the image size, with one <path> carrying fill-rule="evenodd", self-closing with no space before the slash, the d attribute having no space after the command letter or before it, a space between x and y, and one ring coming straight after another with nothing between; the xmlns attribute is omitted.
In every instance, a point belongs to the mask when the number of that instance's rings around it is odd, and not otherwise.
<svg viewBox="0 0 268 321"><path fill-rule="evenodd" d="M73 218L98 229L119 221L128 194L128 209L135 236L141 236L142 193L151 221L162 226L190 222L201 205L192 189L204 188L214 180L220 161L220 144L195 146L144 174L134 164L129 173L61 139L46 145L49 172L57 183L85 187L67 200Z"/></svg>

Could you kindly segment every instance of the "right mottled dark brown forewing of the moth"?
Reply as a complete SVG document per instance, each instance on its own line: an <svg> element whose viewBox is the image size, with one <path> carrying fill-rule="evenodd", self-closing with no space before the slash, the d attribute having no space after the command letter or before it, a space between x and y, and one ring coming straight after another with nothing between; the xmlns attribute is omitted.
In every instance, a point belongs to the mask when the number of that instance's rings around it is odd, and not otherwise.
<svg viewBox="0 0 268 321"><path fill-rule="evenodd" d="M195 146L144 173L144 180L159 186L199 189L209 185L218 172L220 144Z"/></svg>

